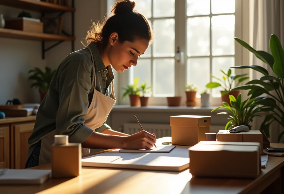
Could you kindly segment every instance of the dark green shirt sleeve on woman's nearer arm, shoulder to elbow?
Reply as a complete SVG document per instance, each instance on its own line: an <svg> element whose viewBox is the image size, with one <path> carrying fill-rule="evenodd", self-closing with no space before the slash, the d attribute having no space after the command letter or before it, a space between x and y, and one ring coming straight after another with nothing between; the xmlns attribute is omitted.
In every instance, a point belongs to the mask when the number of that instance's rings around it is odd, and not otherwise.
<svg viewBox="0 0 284 194"><path fill-rule="evenodd" d="M91 85L90 69L81 60L69 62L60 72L56 128L58 134L69 136L69 142L83 143L94 132L84 125Z"/></svg>

